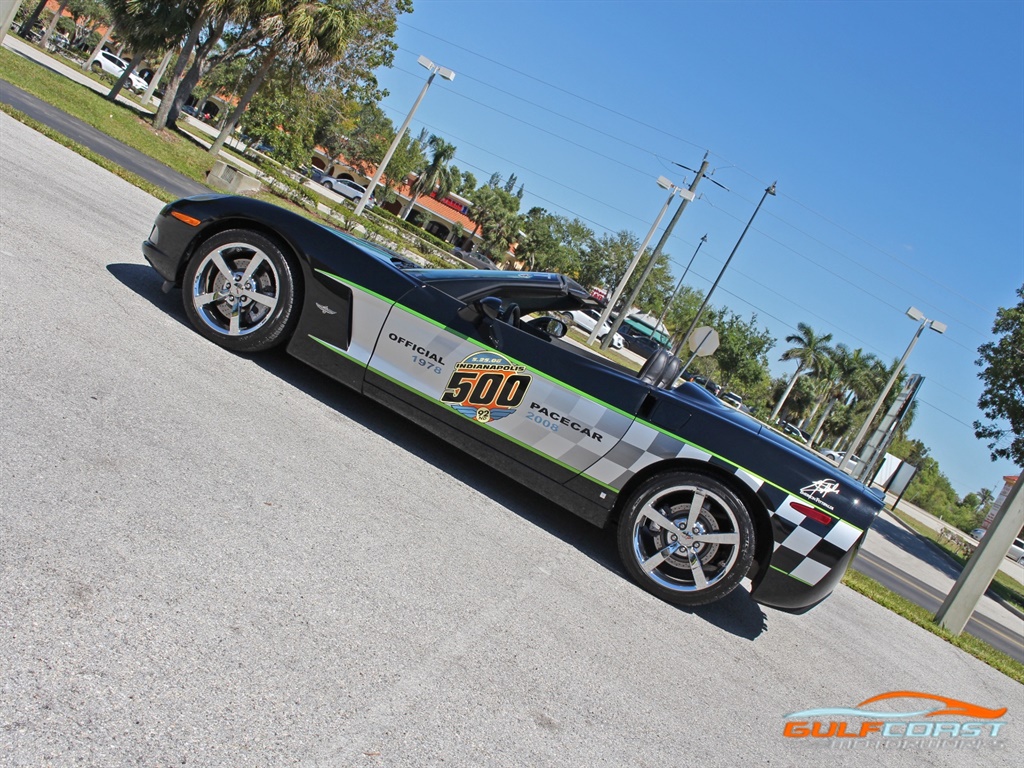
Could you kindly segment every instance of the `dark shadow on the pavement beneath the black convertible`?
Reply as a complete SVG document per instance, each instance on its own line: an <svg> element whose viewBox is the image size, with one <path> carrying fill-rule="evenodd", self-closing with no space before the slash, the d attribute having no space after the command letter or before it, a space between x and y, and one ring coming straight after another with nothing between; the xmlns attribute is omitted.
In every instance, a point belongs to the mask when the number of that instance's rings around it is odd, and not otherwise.
<svg viewBox="0 0 1024 768"><path fill-rule="evenodd" d="M185 318L177 290L165 294L162 281L144 264L109 264L108 271L126 288L195 333ZM224 351L224 354L231 352ZM492 470L485 463L459 449L439 442L428 430L408 421L369 397L339 384L325 374L291 357L283 349L241 355L295 389L309 395L347 419L408 451L493 499L519 517L570 545L595 563L630 582L618 560L611 529L597 528L571 512L552 507L540 494ZM639 587L637 597L643 596ZM737 637L754 640L767 628L767 616L743 588L711 605L678 608Z"/></svg>

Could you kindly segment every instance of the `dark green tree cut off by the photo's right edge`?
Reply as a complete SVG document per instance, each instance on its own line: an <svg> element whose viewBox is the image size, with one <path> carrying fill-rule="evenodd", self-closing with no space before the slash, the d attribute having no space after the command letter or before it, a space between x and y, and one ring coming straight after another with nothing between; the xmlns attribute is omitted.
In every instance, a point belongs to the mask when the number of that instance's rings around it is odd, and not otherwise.
<svg viewBox="0 0 1024 768"><path fill-rule="evenodd" d="M974 433L988 441L992 461L1009 459L1024 466L1024 286L1017 297L1017 306L995 312L996 340L978 347L976 365L984 369L978 378L985 383L978 408L988 423L976 421Z"/></svg>

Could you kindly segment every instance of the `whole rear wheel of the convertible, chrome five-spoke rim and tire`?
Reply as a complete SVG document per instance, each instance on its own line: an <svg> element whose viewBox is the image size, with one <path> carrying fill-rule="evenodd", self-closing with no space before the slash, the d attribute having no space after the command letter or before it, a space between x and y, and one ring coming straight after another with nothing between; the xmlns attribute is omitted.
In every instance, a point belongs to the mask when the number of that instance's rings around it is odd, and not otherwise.
<svg viewBox="0 0 1024 768"><path fill-rule="evenodd" d="M701 499L694 514L690 509ZM643 589L676 605L728 595L754 560L754 523L728 486L696 472L666 472L629 498L618 556Z"/></svg>

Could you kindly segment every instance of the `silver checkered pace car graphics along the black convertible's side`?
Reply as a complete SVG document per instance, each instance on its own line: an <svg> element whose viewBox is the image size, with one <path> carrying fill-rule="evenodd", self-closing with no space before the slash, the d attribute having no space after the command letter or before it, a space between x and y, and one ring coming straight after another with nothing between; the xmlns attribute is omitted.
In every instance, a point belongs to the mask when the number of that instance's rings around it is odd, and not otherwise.
<svg viewBox="0 0 1024 768"><path fill-rule="evenodd" d="M347 281L346 285L355 289L353 301L364 306L378 301L371 292L360 296L356 286ZM372 347L369 370L437 406L458 407L478 427L614 494L647 466L669 459L707 462L730 472L768 510L774 539L772 568L798 581L817 584L863 532L835 511L826 511L820 499L797 496L401 304L393 304L383 326ZM572 429L572 423L588 427ZM803 511L808 505L819 515Z"/></svg>

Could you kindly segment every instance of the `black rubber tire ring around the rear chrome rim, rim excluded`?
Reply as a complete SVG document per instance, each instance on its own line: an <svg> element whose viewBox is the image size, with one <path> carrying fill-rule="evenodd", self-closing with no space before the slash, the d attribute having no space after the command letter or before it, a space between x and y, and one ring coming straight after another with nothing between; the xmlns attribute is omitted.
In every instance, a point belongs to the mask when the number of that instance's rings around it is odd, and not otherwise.
<svg viewBox="0 0 1024 768"><path fill-rule="evenodd" d="M716 584L703 590L673 590L658 584L643 570L633 551L633 526L647 502L673 487L685 486L705 488L729 505L736 519L737 532L739 534L739 552L731 569ZM754 522L746 506L736 493L721 480L698 472L664 472L641 483L629 497L623 508L618 519L616 539L618 556L633 580L647 592L675 605L703 605L722 599L739 586L754 561Z"/></svg>

